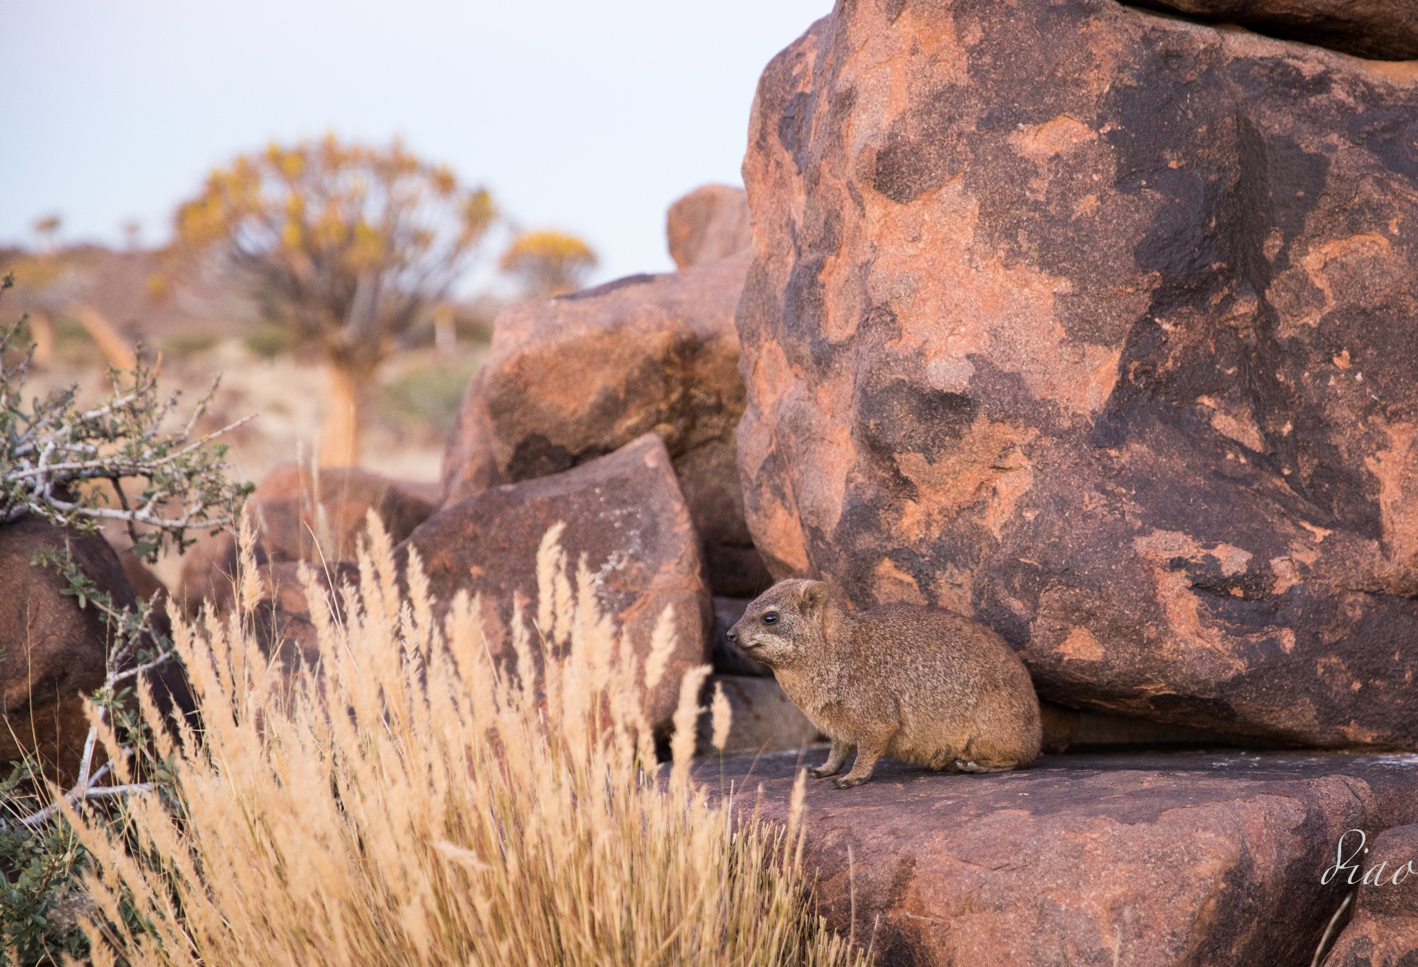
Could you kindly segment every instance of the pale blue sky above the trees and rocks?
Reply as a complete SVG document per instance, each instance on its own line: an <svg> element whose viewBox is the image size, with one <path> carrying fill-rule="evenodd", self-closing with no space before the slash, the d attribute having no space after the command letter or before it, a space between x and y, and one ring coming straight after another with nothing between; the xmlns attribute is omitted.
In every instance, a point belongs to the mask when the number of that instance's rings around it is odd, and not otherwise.
<svg viewBox="0 0 1418 967"><path fill-rule="evenodd" d="M739 184L764 64L831 0L0 0L0 242L166 238L206 172L335 130L450 163L526 227L671 268L664 213Z"/></svg>

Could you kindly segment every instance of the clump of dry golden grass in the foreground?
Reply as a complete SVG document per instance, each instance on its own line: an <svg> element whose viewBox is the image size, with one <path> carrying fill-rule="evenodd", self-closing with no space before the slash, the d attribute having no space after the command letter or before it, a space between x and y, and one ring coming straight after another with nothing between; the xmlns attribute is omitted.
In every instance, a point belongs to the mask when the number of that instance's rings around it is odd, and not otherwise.
<svg viewBox="0 0 1418 967"><path fill-rule="evenodd" d="M465 596L435 627L417 560L400 597L370 523L343 624L316 608L319 675L281 686L238 618L176 630L206 722L164 749L180 807L133 801L126 846L69 811L101 869L95 964L866 963L811 906L801 776L787 829L693 781L703 672L655 770L641 708L669 625L637 668L560 525L506 676ZM146 932L118 926L125 898Z"/></svg>

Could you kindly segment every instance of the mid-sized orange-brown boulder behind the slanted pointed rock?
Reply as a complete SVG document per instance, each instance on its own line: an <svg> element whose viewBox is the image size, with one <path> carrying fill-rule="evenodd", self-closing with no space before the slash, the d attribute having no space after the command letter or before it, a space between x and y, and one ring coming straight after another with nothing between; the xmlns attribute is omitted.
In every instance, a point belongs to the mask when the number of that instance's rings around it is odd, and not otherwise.
<svg viewBox="0 0 1418 967"><path fill-rule="evenodd" d="M735 464L743 383L733 309L746 268L746 257L723 259L503 309L448 440L445 506L654 431L669 448L715 591L767 587Z"/></svg>

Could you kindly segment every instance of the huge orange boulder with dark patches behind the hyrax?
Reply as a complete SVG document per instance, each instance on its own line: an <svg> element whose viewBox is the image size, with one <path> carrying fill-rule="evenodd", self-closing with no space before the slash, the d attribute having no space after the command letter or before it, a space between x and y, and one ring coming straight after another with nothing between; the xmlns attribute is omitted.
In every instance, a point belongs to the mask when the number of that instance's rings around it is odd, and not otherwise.
<svg viewBox="0 0 1418 967"><path fill-rule="evenodd" d="M1044 698L1418 744L1418 74L1112 0L849 3L766 69L739 430L777 577Z"/></svg>

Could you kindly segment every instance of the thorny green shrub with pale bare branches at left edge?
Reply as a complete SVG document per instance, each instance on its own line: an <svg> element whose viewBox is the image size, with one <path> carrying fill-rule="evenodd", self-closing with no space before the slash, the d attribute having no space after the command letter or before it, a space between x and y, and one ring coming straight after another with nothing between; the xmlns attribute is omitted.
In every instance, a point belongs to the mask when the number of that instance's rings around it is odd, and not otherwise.
<svg viewBox="0 0 1418 967"><path fill-rule="evenodd" d="M0 292L11 285L6 276ZM135 370L109 370L112 394L98 407L81 407L77 387L27 404L34 347L23 345L24 322L0 328L0 527L34 516L82 536L116 522L128 527L135 553L155 560L164 547L186 549L191 532L237 519L250 486L227 478L225 447L216 442L231 427L194 434L211 393L183 427L164 431L177 397L159 397L157 366L139 356ZM125 482L140 482L140 489ZM88 950L77 924L89 909L79 889L88 856L60 817L60 800L112 818L119 797L150 794L167 776L130 700L133 683L174 656L155 624L155 603L119 608L78 567L67 543L61 552L41 552L33 564L55 569L78 607L104 615L108 671L91 696L94 725L74 788L51 788L33 757L9 764L0 780L0 966L52 964ZM92 770L101 732L109 736L109 761ZM115 766L133 780L115 784Z"/></svg>

